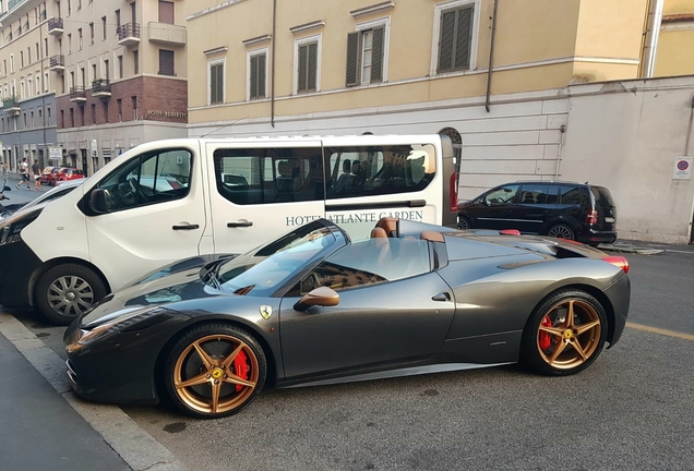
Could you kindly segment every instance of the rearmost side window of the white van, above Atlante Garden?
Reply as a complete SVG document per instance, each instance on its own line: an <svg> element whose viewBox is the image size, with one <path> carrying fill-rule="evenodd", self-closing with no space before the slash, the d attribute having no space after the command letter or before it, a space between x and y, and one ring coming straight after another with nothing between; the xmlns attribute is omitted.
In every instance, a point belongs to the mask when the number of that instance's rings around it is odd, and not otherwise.
<svg viewBox="0 0 694 471"><path fill-rule="evenodd" d="M332 147L324 156L328 200L421 191L436 173L430 144Z"/></svg>

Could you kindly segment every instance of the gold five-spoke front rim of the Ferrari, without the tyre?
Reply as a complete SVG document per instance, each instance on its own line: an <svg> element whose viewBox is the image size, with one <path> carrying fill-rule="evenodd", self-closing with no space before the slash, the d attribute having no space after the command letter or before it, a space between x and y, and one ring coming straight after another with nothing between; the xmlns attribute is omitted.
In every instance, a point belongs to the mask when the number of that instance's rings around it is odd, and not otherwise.
<svg viewBox="0 0 694 471"><path fill-rule="evenodd" d="M239 365L235 360L243 357ZM258 376L253 350L236 337L217 334L195 340L181 352L174 369L174 388L189 408L219 414L243 404L255 390Z"/></svg>

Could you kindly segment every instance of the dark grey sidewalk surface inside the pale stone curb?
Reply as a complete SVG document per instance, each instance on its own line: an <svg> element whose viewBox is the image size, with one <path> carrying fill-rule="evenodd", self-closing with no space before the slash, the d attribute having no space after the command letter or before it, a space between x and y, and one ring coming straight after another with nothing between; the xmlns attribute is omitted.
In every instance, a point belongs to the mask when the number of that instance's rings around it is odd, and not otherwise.
<svg viewBox="0 0 694 471"><path fill-rule="evenodd" d="M0 334L0 470L130 470Z"/></svg>

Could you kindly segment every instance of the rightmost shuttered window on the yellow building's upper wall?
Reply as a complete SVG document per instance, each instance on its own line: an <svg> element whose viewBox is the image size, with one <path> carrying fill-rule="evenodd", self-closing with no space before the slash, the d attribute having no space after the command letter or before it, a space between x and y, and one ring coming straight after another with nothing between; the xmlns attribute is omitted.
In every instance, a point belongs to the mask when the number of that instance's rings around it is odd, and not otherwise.
<svg viewBox="0 0 694 471"><path fill-rule="evenodd" d="M474 19L472 4L441 12L438 73L470 69Z"/></svg>

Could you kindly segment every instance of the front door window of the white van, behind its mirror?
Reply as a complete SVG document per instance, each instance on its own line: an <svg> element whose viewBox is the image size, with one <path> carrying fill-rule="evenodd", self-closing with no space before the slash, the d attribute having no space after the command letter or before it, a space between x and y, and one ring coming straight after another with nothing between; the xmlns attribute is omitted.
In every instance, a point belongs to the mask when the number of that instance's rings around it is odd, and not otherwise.
<svg viewBox="0 0 694 471"><path fill-rule="evenodd" d="M104 179L109 212L180 200L188 195L193 155L187 149L151 152L133 158Z"/></svg>

